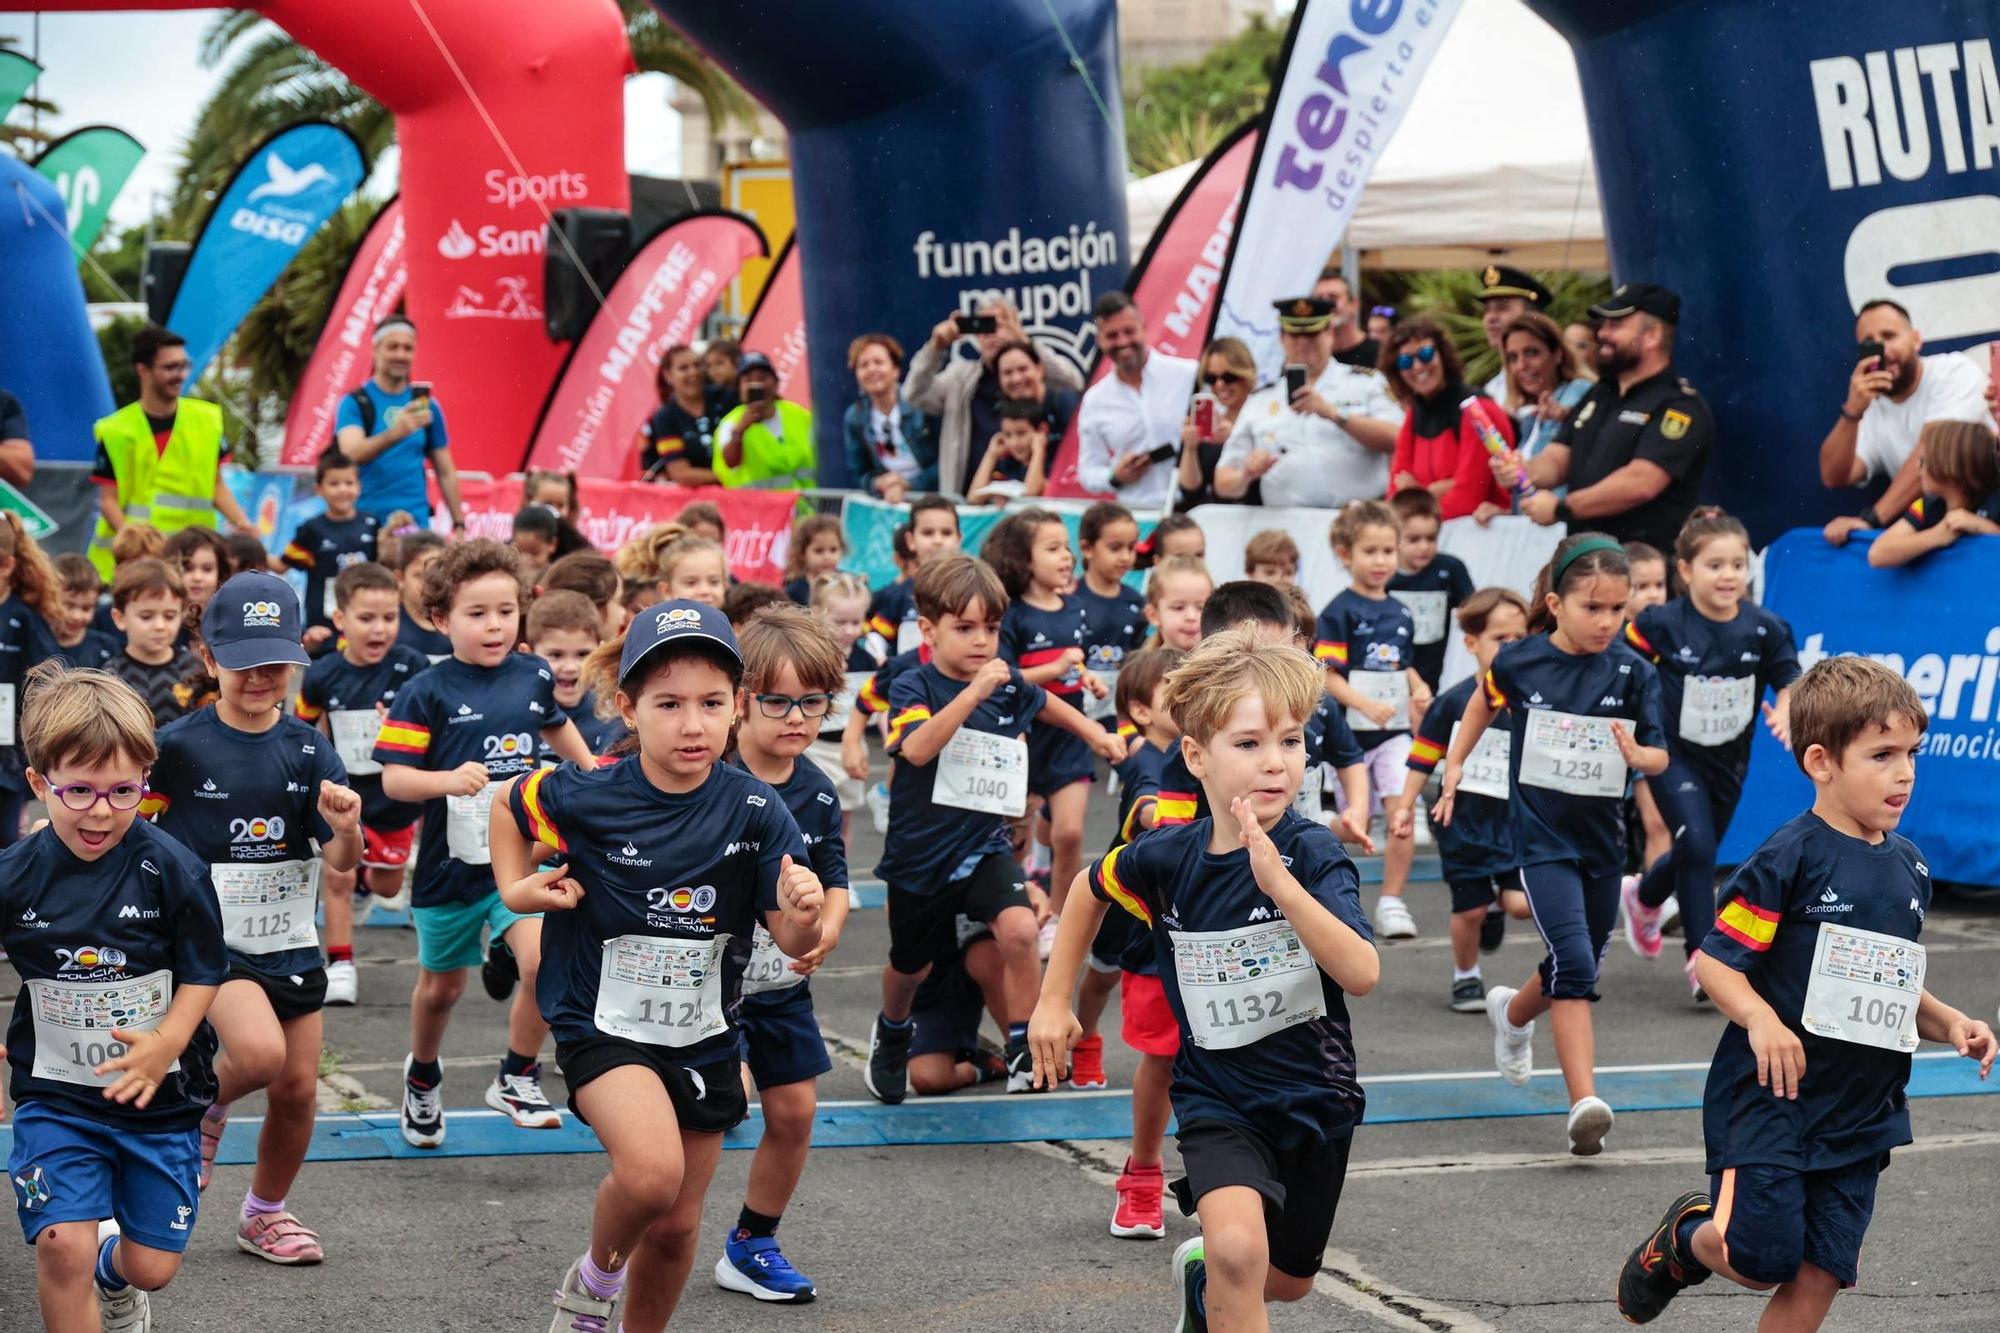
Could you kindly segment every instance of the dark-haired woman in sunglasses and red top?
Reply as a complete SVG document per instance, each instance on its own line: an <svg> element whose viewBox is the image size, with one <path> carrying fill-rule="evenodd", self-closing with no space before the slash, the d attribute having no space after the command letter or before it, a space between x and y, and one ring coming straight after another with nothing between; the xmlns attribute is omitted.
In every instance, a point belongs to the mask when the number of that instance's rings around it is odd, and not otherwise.
<svg viewBox="0 0 2000 1333"><path fill-rule="evenodd" d="M1498 402L1466 388L1458 348L1444 328L1428 318L1396 324L1382 344L1382 374L1408 410L1396 432L1390 494L1424 486L1438 496L1446 522L1508 512L1508 494L1494 480L1486 444L1470 412L1482 412L1508 444L1514 442L1514 422ZM1476 408L1462 410L1460 404L1468 398Z"/></svg>

